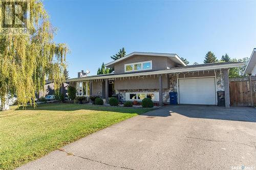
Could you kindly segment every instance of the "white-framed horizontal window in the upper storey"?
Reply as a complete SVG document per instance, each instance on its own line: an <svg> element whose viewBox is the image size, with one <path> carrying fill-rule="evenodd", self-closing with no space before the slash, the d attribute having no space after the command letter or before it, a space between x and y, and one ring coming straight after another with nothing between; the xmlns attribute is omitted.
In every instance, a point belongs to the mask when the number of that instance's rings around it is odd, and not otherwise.
<svg viewBox="0 0 256 170"><path fill-rule="evenodd" d="M152 61L124 64L124 72L152 69Z"/></svg>

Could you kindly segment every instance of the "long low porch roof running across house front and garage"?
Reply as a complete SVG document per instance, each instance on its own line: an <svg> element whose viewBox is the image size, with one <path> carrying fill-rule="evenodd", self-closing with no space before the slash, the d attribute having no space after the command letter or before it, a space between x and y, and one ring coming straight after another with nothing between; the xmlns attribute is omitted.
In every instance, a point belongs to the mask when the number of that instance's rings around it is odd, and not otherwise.
<svg viewBox="0 0 256 170"><path fill-rule="evenodd" d="M169 69L161 69L161 70L154 70L154 71L146 70L146 71L139 71L139 72L127 72L124 74L106 74L106 75L87 76L82 78L72 78L72 79L67 79L66 82L146 76L146 75L174 74L178 72L189 72L189 71L215 70L215 69L223 69L223 68L241 67L241 66L244 66L244 64L245 63L242 63L242 62L222 62L222 63L187 65L187 66L173 67Z"/></svg>

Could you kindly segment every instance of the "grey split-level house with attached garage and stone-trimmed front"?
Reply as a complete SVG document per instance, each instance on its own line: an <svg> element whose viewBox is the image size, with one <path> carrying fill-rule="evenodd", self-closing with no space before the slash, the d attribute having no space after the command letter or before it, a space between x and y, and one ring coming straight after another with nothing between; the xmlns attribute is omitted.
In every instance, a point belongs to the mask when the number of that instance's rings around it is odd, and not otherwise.
<svg viewBox="0 0 256 170"><path fill-rule="evenodd" d="M217 105L217 91L225 91L229 107L229 68L243 66L240 62L186 65L177 54L134 52L114 60L106 67L113 74L68 79L76 87L76 95L100 95L108 103L119 95L120 101L151 98L163 105L169 103L169 92L177 92L178 104Z"/></svg>

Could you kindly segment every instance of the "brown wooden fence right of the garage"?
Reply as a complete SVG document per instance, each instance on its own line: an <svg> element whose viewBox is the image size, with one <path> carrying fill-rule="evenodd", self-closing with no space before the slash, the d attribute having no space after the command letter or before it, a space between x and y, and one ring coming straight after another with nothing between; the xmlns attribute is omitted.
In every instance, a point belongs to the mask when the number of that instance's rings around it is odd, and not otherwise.
<svg viewBox="0 0 256 170"><path fill-rule="evenodd" d="M231 106L255 106L256 76L230 78L229 95Z"/></svg>

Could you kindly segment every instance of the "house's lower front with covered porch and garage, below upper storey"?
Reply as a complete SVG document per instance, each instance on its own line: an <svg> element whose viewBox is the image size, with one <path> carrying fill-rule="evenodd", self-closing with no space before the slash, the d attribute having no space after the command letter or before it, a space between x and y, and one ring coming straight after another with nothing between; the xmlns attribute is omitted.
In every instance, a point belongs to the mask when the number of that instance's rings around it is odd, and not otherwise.
<svg viewBox="0 0 256 170"><path fill-rule="evenodd" d="M133 74L85 77L82 78L84 80L70 81L69 84L76 87L77 96L98 95L105 99L105 103L109 103L109 98L117 94L120 102L134 100L141 102L144 98L151 98L153 102L159 103L160 106L169 104L169 92L177 92L178 104L217 105L217 91L225 91L225 106L229 107L228 71L228 68L187 71L166 69L162 72L147 71ZM206 83L202 84L204 82ZM194 87L191 88L192 86ZM196 95L199 95L197 93L200 93L200 90L195 92L194 89L202 89L203 87L208 87L205 88L205 91L211 90L209 95L211 100L209 103L200 103L200 101L208 99L202 93L200 94L202 99L197 99L198 103L195 103Z"/></svg>

